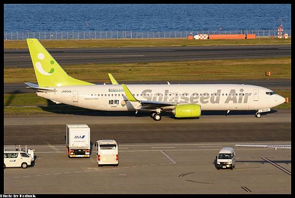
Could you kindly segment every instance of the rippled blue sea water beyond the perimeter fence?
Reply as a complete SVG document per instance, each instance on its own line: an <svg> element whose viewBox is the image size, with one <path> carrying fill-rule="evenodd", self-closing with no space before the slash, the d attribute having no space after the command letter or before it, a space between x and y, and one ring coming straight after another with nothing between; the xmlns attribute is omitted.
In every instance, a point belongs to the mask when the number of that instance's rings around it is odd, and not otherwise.
<svg viewBox="0 0 295 198"><path fill-rule="evenodd" d="M4 4L4 31L291 29L291 4Z"/></svg>

